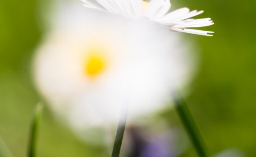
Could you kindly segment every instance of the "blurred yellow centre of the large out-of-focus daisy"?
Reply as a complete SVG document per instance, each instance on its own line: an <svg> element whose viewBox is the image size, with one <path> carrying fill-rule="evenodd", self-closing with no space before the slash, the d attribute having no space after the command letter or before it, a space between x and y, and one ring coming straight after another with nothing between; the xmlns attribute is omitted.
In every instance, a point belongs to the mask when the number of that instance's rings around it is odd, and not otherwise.
<svg viewBox="0 0 256 157"><path fill-rule="evenodd" d="M106 57L101 53L102 51L89 51L89 55L84 62L84 74L90 78L94 78L106 69Z"/></svg>

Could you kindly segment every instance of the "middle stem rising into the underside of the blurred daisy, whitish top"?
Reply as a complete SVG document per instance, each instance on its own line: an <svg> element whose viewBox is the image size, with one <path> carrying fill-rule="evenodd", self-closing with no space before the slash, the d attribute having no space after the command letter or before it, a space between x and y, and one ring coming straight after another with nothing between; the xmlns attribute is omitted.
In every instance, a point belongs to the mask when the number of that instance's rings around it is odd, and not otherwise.
<svg viewBox="0 0 256 157"><path fill-rule="evenodd" d="M116 131L116 135L115 135L115 143L114 143L111 157L119 157L123 138L124 138L127 114L128 114L128 106L124 105L124 108L121 112L120 119L118 122L117 131Z"/></svg>

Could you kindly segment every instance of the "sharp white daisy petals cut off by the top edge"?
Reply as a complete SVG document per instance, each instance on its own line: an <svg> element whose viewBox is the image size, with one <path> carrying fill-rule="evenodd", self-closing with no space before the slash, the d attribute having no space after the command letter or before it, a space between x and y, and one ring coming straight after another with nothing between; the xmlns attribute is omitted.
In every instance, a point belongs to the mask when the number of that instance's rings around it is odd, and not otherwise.
<svg viewBox="0 0 256 157"><path fill-rule="evenodd" d="M212 36L207 33L212 31L201 31L187 29L194 27L210 26L214 23L211 18L191 19L203 13L203 11L181 8L169 12L170 0L82 0L84 6L97 10L105 10L111 13L122 14L129 18L148 17L151 21L159 22L161 25L174 31L186 32L196 35Z"/></svg>

